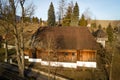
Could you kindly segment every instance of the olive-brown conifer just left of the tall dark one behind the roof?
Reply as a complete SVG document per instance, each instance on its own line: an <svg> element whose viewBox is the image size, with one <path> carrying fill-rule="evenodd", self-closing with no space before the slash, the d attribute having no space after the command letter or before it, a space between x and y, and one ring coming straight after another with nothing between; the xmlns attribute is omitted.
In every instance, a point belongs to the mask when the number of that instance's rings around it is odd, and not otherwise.
<svg viewBox="0 0 120 80"><path fill-rule="evenodd" d="M70 26L71 23L71 15L72 15L72 7L68 6L65 17L63 18L63 26Z"/></svg>

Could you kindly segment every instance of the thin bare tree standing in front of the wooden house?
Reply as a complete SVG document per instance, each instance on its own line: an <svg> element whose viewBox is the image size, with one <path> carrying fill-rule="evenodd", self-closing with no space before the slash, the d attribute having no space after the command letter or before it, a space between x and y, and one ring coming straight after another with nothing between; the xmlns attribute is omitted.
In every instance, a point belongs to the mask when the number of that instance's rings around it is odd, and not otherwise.
<svg viewBox="0 0 120 80"><path fill-rule="evenodd" d="M53 78L55 80L57 68L51 68L52 64L51 61L58 61L57 56L57 43L56 43L56 37L52 33L46 34L46 42L45 42L45 49L47 51L47 61L48 61L48 80L51 80L50 74L53 74ZM52 71L51 71L52 69Z"/></svg>

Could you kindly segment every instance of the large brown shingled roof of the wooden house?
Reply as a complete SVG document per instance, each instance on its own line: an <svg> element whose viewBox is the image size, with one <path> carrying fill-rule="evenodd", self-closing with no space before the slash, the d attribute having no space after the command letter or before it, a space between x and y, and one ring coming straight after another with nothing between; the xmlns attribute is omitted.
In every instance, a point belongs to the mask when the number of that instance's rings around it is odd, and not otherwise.
<svg viewBox="0 0 120 80"><path fill-rule="evenodd" d="M45 48L47 37L52 37L59 49L98 49L98 44L87 27L42 27L33 36L37 47L42 42L42 47Z"/></svg>

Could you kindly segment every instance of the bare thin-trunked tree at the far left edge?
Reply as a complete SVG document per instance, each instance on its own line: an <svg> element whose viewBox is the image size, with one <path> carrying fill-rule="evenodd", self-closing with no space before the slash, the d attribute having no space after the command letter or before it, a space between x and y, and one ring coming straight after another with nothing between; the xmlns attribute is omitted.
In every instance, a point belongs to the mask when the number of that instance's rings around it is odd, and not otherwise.
<svg viewBox="0 0 120 80"><path fill-rule="evenodd" d="M1 32L3 32L3 38L4 38L4 45L5 45L5 59L4 61L8 61L8 40L7 35L10 33L10 24L6 21L9 21L8 18L10 17L10 10L9 6L6 5L7 1L0 0L0 25L1 25Z"/></svg>

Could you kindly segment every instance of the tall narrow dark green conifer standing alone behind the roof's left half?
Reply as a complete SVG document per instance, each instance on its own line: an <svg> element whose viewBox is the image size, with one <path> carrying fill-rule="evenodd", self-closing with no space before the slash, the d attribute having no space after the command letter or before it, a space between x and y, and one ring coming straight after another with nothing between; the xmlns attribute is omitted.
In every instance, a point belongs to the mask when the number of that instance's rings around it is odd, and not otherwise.
<svg viewBox="0 0 120 80"><path fill-rule="evenodd" d="M48 10L48 20L47 20L48 26L55 26L55 12L54 12L54 6L51 2L49 10Z"/></svg>

